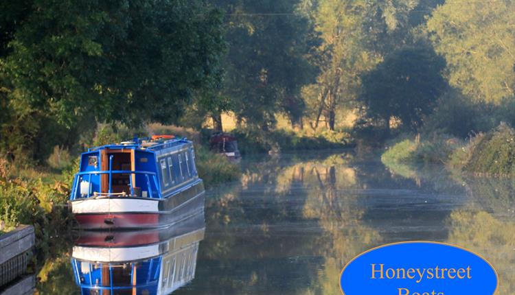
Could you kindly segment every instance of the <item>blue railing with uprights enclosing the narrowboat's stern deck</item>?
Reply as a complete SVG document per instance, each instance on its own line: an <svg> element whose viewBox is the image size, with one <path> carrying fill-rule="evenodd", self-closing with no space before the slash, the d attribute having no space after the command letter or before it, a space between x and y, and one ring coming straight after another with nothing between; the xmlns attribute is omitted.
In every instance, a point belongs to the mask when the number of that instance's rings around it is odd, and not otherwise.
<svg viewBox="0 0 515 295"><path fill-rule="evenodd" d="M113 175L117 174L129 174L128 180L128 189L129 192L113 192ZM101 176L108 175L108 191L102 192L100 191L91 191L92 189L92 176ZM148 198L156 198L161 199L161 192L159 190L159 185L157 182L157 174L155 172L150 171L133 171L133 170L106 170L106 171L87 171L87 172L79 172L76 174L73 179L73 186L71 191L71 200L81 199L81 198L109 198L109 197L120 197L120 196L136 196L135 195L135 184L133 183L132 175L143 175L144 180L146 182L146 187L148 188ZM87 191L84 192L84 188L82 187L82 182L87 181ZM102 179L98 185L102 187L100 184L102 183Z"/></svg>

